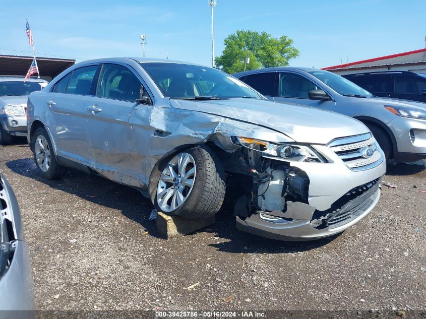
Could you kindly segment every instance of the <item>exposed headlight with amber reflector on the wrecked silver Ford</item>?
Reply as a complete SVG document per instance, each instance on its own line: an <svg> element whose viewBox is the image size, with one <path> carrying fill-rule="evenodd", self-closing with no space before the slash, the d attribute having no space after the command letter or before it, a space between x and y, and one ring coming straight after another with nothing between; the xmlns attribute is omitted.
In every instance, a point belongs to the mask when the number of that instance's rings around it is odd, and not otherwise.
<svg viewBox="0 0 426 319"><path fill-rule="evenodd" d="M293 162L324 162L309 145L273 143L245 137L235 137L234 140L237 144L262 152L262 156L266 158Z"/></svg>

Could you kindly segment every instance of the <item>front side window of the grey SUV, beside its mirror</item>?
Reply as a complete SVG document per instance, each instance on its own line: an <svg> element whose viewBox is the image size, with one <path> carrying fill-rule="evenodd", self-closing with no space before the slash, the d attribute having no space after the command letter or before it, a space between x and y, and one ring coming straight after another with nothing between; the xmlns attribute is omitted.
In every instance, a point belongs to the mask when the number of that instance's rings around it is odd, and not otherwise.
<svg viewBox="0 0 426 319"><path fill-rule="evenodd" d="M319 88L302 76L293 73L281 73L279 96L309 99L308 92Z"/></svg>

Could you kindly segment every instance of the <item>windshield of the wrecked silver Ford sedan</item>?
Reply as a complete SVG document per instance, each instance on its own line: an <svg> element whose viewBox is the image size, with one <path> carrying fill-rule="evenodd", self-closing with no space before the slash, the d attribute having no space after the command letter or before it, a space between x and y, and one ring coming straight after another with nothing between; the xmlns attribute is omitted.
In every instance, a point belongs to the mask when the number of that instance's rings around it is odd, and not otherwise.
<svg viewBox="0 0 426 319"><path fill-rule="evenodd" d="M165 97L174 99L261 98L246 84L216 69L170 62L140 64Z"/></svg>

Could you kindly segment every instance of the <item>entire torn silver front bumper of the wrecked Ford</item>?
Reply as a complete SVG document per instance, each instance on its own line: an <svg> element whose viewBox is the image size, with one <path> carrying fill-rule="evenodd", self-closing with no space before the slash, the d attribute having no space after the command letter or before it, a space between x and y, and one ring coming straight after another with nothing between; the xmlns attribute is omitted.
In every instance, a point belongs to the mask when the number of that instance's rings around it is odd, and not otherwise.
<svg viewBox="0 0 426 319"><path fill-rule="evenodd" d="M376 166L354 171L327 146L315 148L330 162L290 163L309 177L308 204L287 205L281 217L277 212L272 212L272 217L268 212L257 212L244 220L237 216L239 230L280 240L313 240L343 232L374 209L386 172L382 150L379 148L382 157Z"/></svg>

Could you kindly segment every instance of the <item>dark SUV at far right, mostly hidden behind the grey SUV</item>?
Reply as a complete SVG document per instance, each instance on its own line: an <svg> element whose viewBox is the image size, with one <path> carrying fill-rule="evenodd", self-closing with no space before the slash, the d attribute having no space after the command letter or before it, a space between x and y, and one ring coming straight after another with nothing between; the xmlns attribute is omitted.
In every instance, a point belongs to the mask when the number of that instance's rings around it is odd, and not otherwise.
<svg viewBox="0 0 426 319"><path fill-rule="evenodd" d="M408 71L343 75L376 96L426 102L426 75Z"/></svg>

